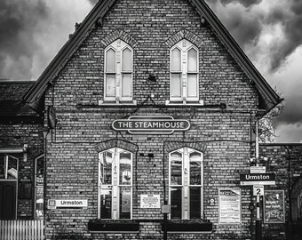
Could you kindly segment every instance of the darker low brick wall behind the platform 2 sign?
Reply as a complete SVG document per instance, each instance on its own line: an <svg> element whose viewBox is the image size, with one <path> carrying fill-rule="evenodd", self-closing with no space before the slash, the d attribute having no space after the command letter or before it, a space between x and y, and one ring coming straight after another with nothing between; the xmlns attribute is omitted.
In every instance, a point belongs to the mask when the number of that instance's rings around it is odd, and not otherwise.
<svg viewBox="0 0 302 240"><path fill-rule="evenodd" d="M302 144L262 144L259 148L259 156L267 156L269 160L264 163L266 172L274 172L276 185L266 186L265 190L281 189L285 195L285 222L278 224L263 224L266 239L298 239L294 238L297 228L293 212L297 212L297 206L291 203L293 189L298 184L302 172ZM296 185L297 187L297 185ZM290 192L290 195L289 195ZM285 237L288 238L285 238ZM297 236L296 236L297 237Z"/></svg>

